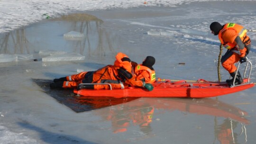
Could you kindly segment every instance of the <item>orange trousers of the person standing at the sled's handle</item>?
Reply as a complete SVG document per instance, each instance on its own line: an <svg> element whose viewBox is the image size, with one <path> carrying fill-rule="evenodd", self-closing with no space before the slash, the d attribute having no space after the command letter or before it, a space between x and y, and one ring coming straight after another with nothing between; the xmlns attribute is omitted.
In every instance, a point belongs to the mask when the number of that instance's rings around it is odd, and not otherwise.
<svg viewBox="0 0 256 144"><path fill-rule="evenodd" d="M237 63L239 60L239 55L237 53L233 53L225 62L222 62L221 64L229 73L232 73L237 70L235 63Z"/></svg>

